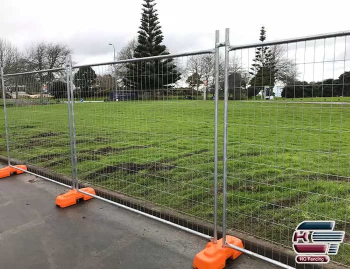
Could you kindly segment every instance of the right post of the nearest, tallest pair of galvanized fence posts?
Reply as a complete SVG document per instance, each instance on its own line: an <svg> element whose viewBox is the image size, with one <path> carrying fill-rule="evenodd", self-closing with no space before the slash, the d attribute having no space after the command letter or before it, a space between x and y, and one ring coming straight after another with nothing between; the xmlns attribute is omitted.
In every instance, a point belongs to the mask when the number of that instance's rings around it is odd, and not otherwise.
<svg viewBox="0 0 350 269"><path fill-rule="evenodd" d="M224 110L223 110L223 178L222 178L222 247L226 246L226 177L227 177L227 109L228 109L228 52L229 28L225 32L225 66L224 66Z"/></svg>

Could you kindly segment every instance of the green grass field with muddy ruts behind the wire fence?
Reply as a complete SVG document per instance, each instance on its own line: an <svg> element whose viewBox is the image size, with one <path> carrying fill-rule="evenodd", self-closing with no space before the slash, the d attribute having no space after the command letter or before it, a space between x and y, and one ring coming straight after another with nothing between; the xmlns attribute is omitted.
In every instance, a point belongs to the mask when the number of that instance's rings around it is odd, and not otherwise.
<svg viewBox="0 0 350 269"><path fill-rule="evenodd" d="M222 101L219 105L221 201ZM79 179L212 221L213 101L74 108ZM300 221L335 219L337 229L346 230L346 244L331 259L350 265L349 109L229 101L227 226L291 247ZM12 157L70 175L66 104L8 107L7 113ZM0 137L6 154L3 129ZM222 209L219 224L221 218Z"/></svg>

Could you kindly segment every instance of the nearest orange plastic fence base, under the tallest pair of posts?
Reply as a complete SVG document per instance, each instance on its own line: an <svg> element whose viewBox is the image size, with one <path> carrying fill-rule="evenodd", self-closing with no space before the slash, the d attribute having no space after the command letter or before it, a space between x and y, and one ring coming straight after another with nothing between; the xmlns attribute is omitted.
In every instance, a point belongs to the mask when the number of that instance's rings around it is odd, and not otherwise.
<svg viewBox="0 0 350 269"><path fill-rule="evenodd" d="M226 242L243 248L242 240L231 235L226 235ZM242 252L228 246L222 247L222 238L217 243L208 242L205 248L197 253L193 260L195 269L222 269L226 265L226 259L236 259Z"/></svg>

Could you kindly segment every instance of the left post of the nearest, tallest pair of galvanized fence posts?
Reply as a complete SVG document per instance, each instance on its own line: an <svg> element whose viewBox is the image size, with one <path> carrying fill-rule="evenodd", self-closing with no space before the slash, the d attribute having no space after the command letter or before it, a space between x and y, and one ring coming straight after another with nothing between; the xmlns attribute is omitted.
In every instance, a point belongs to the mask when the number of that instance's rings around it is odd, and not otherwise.
<svg viewBox="0 0 350 269"><path fill-rule="evenodd" d="M218 84L219 84L219 49L220 31L215 31L215 130L214 130L214 238L217 243L217 125L218 125Z"/></svg>

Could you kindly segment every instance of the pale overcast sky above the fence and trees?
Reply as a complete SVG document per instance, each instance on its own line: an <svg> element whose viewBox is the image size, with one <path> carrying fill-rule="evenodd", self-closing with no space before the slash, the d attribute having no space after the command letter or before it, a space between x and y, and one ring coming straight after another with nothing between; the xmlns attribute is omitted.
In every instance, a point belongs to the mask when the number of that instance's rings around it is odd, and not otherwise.
<svg viewBox="0 0 350 269"><path fill-rule="evenodd" d="M108 61L113 59L109 42L118 51L137 35L142 2L2 0L0 34L21 50L31 42L58 41L73 48L78 63ZM266 40L350 30L348 0L156 2L164 44L172 53L211 48L215 30L220 30L223 41L226 27L230 28L231 44L257 42L261 25L267 31Z"/></svg>

